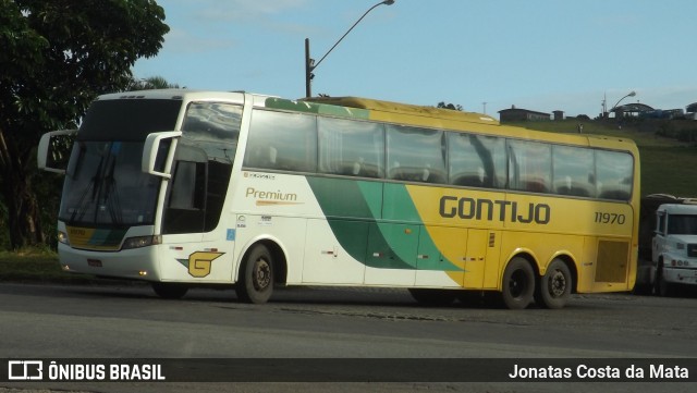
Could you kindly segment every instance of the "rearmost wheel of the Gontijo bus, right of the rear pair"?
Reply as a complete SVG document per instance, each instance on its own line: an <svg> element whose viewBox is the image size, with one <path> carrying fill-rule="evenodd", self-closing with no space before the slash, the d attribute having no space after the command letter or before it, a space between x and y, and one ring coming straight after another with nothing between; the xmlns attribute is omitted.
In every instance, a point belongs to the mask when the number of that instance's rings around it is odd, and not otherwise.
<svg viewBox="0 0 697 393"><path fill-rule="evenodd" d="M568 302L573 286L573 278L566 263L561 259L554 259L540 279L535 291L535 302L545 308L563 308Z"/></svg>

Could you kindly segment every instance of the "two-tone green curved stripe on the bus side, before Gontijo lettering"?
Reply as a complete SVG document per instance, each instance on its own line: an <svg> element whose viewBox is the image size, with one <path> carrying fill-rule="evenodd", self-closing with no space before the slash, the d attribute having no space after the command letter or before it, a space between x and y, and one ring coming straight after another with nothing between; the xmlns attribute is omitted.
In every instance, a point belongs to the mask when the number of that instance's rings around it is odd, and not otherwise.
<svg viewBox="0 0 697 393"><path fill-rule="evenodd" d="M444 257L418 220L404 185L314 176L307 182L334 236L355 260L371 268L462 271L451 261L440 262ZM391 194L384 209L391 216L387 222L382 220L383 188ZM438 256L417 260L424 249Z"/></svg>

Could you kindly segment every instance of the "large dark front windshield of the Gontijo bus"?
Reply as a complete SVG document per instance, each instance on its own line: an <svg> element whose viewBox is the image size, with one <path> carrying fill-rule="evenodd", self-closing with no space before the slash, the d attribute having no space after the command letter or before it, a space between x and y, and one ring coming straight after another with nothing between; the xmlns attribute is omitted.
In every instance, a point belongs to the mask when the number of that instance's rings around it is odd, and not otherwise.
<svg viewBox="0 0 697 393"><path fill-rule="evenodd" d="M143 145L149 133L174 130L181 106L95 101L73 145L59 219L84 226L152 224L160 179L140 171Z"/></svg>

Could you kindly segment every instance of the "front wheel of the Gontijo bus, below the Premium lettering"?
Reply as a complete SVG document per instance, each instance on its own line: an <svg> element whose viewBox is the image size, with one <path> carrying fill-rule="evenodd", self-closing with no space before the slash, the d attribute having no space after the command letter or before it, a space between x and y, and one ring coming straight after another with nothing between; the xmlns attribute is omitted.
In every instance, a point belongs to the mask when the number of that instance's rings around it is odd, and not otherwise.
<svg viewBox="0 0 697 393"><path fill-rule="evenodd" d="M273 293L273 259L269 249L258 244L248 253L240 267L235 287L237 298L244 303L267 303Z"/></svg>

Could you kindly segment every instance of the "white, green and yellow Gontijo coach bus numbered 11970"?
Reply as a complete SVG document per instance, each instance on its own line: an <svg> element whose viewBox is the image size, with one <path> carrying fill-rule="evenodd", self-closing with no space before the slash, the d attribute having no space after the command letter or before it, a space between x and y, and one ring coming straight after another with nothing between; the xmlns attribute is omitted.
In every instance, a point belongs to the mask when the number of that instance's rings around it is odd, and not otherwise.
<svg viewBox="0 0 697 393"><path fill-rule="evenodd" d="M37 160L65 175L61 268L168 298L375 286L561 308L636 278L626 139L355 97L164 89L98 97L80 130L42 136Z"/></svg>

